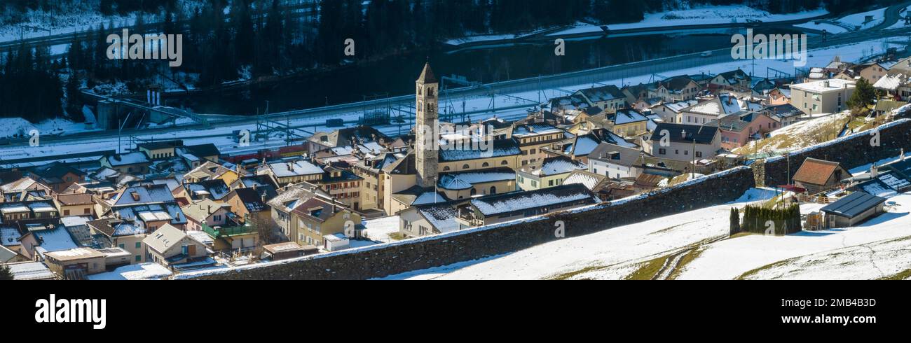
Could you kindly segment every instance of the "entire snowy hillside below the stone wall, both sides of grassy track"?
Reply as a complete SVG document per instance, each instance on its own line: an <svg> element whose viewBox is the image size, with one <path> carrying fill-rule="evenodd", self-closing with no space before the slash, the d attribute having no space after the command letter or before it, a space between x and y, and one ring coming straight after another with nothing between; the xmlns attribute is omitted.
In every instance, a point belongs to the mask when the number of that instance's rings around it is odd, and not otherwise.
<svg viewBox="0 0 911 343"><path fill-rule="evenodd" d="M744 277L866 279L890 277L911 268L911 195L890 198L895 205L889 206L887 213L858 227L785 237L726 238L732 206L773 196L773 191L752 189L732 204L385 278L622 279L650 260L692 247L699 250L698 256L682 266L675 278L732 279L759 269ZM802 212L820 207L804 205Z"/></svg>

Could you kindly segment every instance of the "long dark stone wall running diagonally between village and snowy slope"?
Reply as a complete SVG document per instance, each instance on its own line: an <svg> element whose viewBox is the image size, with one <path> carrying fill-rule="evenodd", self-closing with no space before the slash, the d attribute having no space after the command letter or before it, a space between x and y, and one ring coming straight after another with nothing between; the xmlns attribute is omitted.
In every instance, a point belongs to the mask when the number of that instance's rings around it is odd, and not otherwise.
<svg viewBox="0 0 911 343"><path fill-rule="evenodd" d="M901 148L911 152L911 121L903 120L880 129L880 146L872 146L868 134L806 148L791 156L791 175L806 157L838 161L847 168L862 166L890 156ZM765 164L766 185L781 185L787 179L787 159L771 158ZM441 267L456 262L490 257L562 239L555 235L563 221L565 237L578 237L702 207L723 204L754 186L753 171L740 166L698 178L658 192L609 204L548 214L520 222L477 227L435 237L421 237L374 247L363 247L319 256L242 267L229 271L189 273L177 278L193 279L364 279Z"/></svg>

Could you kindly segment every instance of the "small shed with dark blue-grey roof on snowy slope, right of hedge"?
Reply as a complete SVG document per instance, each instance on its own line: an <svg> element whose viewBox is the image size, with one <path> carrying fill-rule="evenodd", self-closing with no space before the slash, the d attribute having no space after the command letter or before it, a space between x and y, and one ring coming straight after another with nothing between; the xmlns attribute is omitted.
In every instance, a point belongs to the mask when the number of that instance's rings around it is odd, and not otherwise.
<svg viewBox="0 0 911 343"><path fill-rule="evenodd" d="M821 209L825 227L855 227L865 220L885 212L885 197L855 192Z"/></svg>

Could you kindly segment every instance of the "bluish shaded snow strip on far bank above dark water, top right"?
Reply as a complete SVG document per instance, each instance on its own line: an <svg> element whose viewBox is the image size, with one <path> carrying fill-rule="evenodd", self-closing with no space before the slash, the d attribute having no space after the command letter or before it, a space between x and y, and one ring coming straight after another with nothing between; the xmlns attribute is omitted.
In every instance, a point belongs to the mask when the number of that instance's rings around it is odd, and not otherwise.
<svg viewBox="0 0 911 343"><path fill-rule="evenodd" d="M827 15L828 13L824 9L817 9L794 14L773 15L746 5L703 6L686 10L650 13L646 14L645 18L639 23L611 24L608 25L608 28L611 30L623 30L678 25L745 23L747 19L771 23L812 18ZM601 29L598 25L578 24L573 28L550 35L572 35L591 32L601 32Z"/></svg>

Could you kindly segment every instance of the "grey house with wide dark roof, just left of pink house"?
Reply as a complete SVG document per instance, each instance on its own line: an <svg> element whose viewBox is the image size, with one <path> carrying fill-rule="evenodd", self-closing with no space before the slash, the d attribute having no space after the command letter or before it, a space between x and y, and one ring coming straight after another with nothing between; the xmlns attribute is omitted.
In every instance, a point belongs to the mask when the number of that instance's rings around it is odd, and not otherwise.
<svg viewBox="0 0 911 343"><path fill-rule="evenodd" d="M662 133L667 134L666 146L661 145ZM718 126L661 123L650 139L643 139L642 143L651 156L692 161L716 156L722 148L722 134Z"/></svg>

